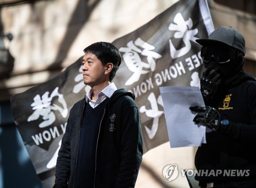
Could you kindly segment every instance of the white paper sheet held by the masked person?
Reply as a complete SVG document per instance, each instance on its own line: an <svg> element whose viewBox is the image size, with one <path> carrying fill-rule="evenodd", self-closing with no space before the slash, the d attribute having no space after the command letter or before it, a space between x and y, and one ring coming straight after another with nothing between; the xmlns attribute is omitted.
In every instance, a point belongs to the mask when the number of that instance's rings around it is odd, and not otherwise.
<svg viewBox="0 0 256 188"><path fill-rule="evenodd" d="M206 143L205 126L193 122L190 106L205 106L198 87L160 87L170 147L201 146Z"/></svg>

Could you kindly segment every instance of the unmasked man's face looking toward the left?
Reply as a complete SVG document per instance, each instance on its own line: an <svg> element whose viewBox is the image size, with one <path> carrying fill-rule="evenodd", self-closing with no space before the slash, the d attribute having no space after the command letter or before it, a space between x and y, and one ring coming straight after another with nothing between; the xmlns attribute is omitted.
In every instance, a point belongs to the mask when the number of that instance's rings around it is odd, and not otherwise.
<svg viewBox="0 0 256 188"><path fill-rule="evenodd" d="M86 52L82 60L83 83L90 87L100 85L106 81L105 66L91 52Z"/></svg>

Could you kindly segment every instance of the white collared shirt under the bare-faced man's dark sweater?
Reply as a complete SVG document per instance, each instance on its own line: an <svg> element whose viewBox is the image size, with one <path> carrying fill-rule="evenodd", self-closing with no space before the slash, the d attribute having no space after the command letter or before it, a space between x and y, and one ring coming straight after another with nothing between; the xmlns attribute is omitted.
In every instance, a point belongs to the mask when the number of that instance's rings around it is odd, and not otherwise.
<svg viewBox="0 0 256 188"><path fill-rule="evenodd" d="M92 96L93 90L91 89L86 94L86 102L89 103L92 106L92 108L94 109L97 105L99 105L106 98L110 98L116 90L117 90L116 85L114 83L111 83L109 86L105 87L101 92L98 93L97 100L92 100L91 96Z"/></svg>

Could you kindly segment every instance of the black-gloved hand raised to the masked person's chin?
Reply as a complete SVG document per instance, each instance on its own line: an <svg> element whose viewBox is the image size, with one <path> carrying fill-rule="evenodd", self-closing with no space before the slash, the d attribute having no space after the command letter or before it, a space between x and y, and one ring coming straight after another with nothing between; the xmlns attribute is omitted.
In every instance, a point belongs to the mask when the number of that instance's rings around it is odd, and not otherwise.
<svg viewBox="0 0 256 188"><path fill-rule="evenodd" d="M200 90L205 101L209 102L214 98L220 84L221 76L217 72L217 69L213 67L205 69L200 80Z"/></svg>

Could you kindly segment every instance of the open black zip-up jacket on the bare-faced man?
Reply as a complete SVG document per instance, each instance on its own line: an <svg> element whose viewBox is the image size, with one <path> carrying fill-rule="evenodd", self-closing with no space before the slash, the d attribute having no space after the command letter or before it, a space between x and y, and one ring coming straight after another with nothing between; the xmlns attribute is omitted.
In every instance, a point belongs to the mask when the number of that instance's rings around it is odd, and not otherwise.
<svg viewBox="0 0 256 188"><path fill-rule="evenodd" d="M58 152L54 188L74 188L78 143L85 98L70 110L66 132ZM115 114L114 127L110 116ZM96 146L95 187L134 187L142 160L143 143L134 94L119 89L100 117ZM113 125L113 124L112 124Z"/></svg>

